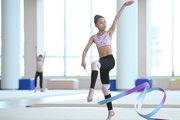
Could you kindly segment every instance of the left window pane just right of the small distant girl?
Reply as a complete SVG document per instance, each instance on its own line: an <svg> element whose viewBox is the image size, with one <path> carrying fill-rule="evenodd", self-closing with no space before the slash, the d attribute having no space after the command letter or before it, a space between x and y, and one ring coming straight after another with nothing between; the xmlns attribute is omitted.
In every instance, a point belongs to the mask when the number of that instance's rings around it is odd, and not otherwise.
<svg viewBox="0 0 180 120"><path fill-rule="evenodd" d="M44 1L44 76L64 75L64 1Z"/></svg>

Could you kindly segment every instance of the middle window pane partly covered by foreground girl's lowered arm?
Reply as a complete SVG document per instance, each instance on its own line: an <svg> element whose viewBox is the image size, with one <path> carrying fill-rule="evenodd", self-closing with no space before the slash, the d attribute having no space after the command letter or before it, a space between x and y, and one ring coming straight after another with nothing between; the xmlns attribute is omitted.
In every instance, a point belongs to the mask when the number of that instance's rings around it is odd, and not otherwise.
<svg viewBox="0 0 180 120"><path fill-rule="evenodd" d="M81 66L81 58L90 37L90 7L90 0L66 0L67 76L87 76Z"/></svg>

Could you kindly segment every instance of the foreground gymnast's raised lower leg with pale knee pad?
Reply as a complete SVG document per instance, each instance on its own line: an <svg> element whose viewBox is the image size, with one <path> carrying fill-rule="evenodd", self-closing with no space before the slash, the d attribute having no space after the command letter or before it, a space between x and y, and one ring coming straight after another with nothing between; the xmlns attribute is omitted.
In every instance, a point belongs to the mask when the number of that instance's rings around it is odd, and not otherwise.
<svg viewBox="0 0 180 120"><path fill-rule="evenodd" d="M98 76L98 70L100 69L101 64L99 61L94 61L91 63L91 83L90 83L90 89L89 89L89 94L87 97L87 101L91 102L93 100L94 96L94 87L96 84L97 76Z"/></svg>

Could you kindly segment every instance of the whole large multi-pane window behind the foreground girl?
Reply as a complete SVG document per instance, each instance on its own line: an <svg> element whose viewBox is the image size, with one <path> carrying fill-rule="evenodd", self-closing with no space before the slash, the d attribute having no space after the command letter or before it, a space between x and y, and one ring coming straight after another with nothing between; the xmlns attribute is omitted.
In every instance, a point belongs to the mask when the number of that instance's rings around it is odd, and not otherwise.
<svg viewBox="0 0 180 120"><path fill-rule="evenodd" d="M100 4L103 5L99 6ZM110 27L115 13L116 0L45 0L45 46L48 51L44 75L88 76L81 66L81 57L90 36L97 33L94 15L103 15ZM86 57L89 74L91 62L97 59L97 49L93 44ZM110 74L115 75L115 70L116 68Z"/></svg>

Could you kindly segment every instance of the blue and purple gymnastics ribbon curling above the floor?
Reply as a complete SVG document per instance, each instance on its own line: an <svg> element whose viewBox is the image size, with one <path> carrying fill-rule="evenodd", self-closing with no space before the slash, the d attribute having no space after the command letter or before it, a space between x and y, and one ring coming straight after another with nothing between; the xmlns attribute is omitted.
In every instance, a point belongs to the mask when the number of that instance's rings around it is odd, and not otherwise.
<svg viewBox="0 0 180 120"><path fill-rule="evenodd" d="M117 99L122 98L122 97L124 97L124 96L127 96L127 95L129 95L129 94L131 94L131 93L133 93L133 92L136 92L136 91L138 91L138 90L141 90L142 88L144 88L144 90L143 90L143 92L137 97L136 102L135 102L135 104L134 104L134 108L135 108L137 114L138 114L139 116L147 119L147 120L167 120L167 119L160 119L160 118L151 118L151 116L153 116L154 114L156 114L156 113L162 108L162 106L164 105L165 100L166 100L166 93L165 93L165 91L164 91L163 89L158 88L158 87L150 88L150 85L148 84L148 82L145 82L145 83L143 83L143 84L140 84L140 85L138 85L138 86L136 86L136 87L134 87L134 88L132 88L132 89L129 89L129 90L127 90L127 91L125 91L125 92L123 92L123 93L121 93L121 94L115 95L115 96L113 96L113 97L111 97L111 98L108 98L108 99L99 101L98 104L99 104L99 105L103 105L103 104L109 103L109 102L111 102L111 101L114 101L114 100L117 100ZM160 104L159 104L152 112L150 112L150 113L148 113L148 114L141 114L141 113L140 113L140 110L141 110L141 108L142 108L143 100L144 100L146 94L147 94L148 92L151 92L151 91L161 91L161 92L164 93L164 97L163 97L162 101L160 102Z"/></svg>

